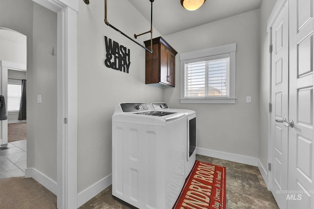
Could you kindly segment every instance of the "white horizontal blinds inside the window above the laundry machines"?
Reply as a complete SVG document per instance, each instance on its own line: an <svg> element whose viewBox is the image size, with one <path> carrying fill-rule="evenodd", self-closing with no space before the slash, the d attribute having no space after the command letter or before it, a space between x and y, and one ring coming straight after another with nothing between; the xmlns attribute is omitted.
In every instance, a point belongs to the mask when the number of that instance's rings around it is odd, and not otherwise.
<svg viewBox="0 0 314 209"><path fill-rule="evenodd" d="M184 82L185 98L229 98L229 53L186 61L184 64Z"/></svg>

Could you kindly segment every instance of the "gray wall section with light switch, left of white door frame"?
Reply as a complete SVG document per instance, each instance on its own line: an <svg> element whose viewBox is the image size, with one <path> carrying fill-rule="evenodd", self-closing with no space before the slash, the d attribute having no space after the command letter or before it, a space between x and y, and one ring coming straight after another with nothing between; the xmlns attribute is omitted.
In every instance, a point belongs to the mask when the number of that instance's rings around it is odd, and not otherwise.
<svg viewBox="0 0 314 209"><path fill-rule="evenodd" d="M27 69L27 168L57 181L57 15L33 4L33 68ZM42 103L37 103L37 94Z"/></svg>

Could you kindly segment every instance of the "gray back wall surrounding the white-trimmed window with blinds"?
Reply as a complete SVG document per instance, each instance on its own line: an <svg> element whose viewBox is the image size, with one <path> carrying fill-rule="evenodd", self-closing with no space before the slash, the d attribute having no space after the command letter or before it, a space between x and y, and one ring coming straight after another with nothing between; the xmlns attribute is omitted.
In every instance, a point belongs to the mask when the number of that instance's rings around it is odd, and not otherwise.
<svg viewBox="0 0 314 209"><path fill-rule="evenodd" d="M177 51L176 87L164 90L172 108L195 110L197 147L258 157L260 10L165 36ZM236 43L235 104L180 104L180 54ZM246 103L252 96L252 103Z"/></svg>

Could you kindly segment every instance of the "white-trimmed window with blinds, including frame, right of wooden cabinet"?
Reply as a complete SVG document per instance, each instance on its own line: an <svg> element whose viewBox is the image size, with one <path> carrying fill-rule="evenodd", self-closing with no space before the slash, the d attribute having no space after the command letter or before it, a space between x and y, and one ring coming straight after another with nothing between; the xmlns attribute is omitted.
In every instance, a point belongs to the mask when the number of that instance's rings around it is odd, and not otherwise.
<svg viewBox="0 0 314 209"><path fill-rule="evenodd" d="M235 103L236 44L180 55L181 103Z"/></svg>

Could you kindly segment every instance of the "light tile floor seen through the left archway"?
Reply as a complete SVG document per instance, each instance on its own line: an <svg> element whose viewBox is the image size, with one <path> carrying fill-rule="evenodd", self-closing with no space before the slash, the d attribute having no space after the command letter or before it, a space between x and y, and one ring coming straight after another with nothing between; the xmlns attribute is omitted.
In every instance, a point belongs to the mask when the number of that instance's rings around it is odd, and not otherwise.
<svg viewBox="0 0 314 209"><path fill-rule="evenodd" d="M0 149L0 179L25 176L26 139L8 143Z"/></svg>

